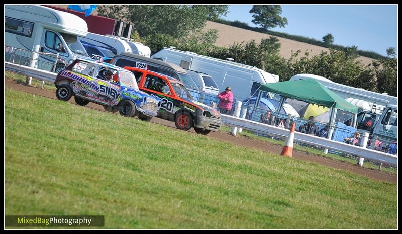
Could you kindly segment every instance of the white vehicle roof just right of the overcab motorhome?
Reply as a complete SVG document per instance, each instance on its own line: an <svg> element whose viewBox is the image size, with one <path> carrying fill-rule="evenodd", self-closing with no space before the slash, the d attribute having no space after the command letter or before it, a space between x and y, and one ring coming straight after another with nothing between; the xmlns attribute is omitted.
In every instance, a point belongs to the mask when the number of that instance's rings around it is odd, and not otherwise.
<svg viewBox="0 0 402 234"><path fill-rule="evenodd" d="M85 37L79 37L78 39L85 44L112 48L110 50L112 50L115 54L132 52L130 45L125 40L111 35L105 36L88 32Z"/></svg>

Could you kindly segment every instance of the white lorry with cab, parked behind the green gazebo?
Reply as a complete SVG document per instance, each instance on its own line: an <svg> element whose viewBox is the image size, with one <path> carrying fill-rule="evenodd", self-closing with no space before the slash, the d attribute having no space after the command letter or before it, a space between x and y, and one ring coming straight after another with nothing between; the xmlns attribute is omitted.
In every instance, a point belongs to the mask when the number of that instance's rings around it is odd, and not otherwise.
<svg viewBox="0 0 402 234"><path fill-rule="evenodd" d="M397 97L338 84L314 74L297 74L292 76L290 81L303 79L316 79L329 90L362 109L357 114L356 121L347 122L349 126L355 122L352 127L368 132L373 138L378 137L387 143L397 141Z"/></svg>

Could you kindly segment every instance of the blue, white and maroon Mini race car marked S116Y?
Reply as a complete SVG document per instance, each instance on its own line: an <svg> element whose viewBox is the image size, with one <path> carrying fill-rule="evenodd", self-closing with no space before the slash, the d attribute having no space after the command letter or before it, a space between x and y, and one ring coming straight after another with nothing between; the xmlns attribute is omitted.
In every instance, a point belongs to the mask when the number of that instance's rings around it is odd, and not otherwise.
<svg viewBox="0 0 402 234"><path fill-rule="evenodd" d="M160 98L138 89L132 72L93 59L76 59L57 74L54 84L59 100L68 101L74 95L78 105L93 102L127 117L138 115L149 121L160 107Z"/></svg>

